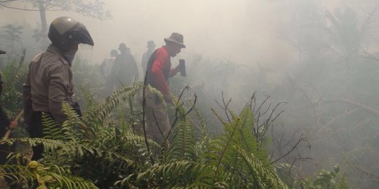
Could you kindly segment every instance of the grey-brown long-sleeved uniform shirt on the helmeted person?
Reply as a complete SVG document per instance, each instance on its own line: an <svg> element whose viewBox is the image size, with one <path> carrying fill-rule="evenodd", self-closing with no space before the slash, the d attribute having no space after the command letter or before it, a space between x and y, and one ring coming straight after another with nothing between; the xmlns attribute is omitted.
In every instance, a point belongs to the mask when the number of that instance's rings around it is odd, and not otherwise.
<svg viewBox="0 0 379 189"><path fill-rule="evenodd" d="M31 104L33 111L50 112L59 124L65 122L62 102L72 104L74 84L69 63L54 45L33 58L22 92L25 119Z"/></svg>

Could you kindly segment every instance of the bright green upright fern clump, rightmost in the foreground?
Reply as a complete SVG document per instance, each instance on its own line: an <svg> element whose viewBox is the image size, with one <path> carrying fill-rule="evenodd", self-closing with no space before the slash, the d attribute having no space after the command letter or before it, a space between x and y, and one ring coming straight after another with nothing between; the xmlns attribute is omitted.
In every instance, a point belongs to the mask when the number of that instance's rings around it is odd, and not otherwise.
<svg viewBox="0 0 379 189"><path fill-rule="evenodd" d="M217 160L217 164L213 165L216 170L212 186L217 179L218 169L221 169L230 172L228 179L233 183L232 186L237 188L244 186L285 188L284 183L272 172L265 151L258 148L257 141L253 137L251 109L246 107L239 116L233 116L230 123L225 121L223 123L225 134L211 142L211 151L208 153L209 159Z"/></svg>

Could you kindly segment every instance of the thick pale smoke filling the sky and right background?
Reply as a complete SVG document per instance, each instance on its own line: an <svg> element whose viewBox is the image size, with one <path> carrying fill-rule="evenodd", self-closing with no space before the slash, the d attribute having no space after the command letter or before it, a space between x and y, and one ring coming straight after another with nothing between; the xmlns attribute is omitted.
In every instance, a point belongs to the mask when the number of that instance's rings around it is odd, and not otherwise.
<svg viewBox="0 0 379 189"><path fill-rule="evenodd" d="M46 18L50 23L68 15L88 27L95 46L79 55L89 62L100 64L126 43L140 70L147 41L158 48L172 32L183 34L187 48L178 57L187 61L187 77L173 78L170 87L174 94L185 85L192 87L189 93L197 92L207 127L220 126L219 120L212 122L211 107L217 109L214 100L220 101L222 91L238 105L254 91L258 101L271 95L267 112L277 102L287 103L279 107L285 112L275 124L283 127L275 127L273 140L284 136L281 132L288 140L305 134L312 144L295 152L312 158L297 165L298 176L340 165L357 188L379 187L378 0L104 2L112 20L65 11L47 11ZM40 28L38 11L2 8L0 13L0 26L18 22ZM34 43L28 38L22 41L26 48ZM0 41L0 50L6 49ZM38 51L27 49L27 56ZM175 66L178 58L172 62Z"/></svg>

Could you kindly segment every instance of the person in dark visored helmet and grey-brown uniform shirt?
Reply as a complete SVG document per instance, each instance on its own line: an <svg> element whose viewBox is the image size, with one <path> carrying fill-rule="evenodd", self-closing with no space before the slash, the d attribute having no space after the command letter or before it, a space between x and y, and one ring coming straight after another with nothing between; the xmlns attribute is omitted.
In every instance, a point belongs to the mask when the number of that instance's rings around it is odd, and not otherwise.
<svg viewBox="0 0 379 189"><path fill-rule="evenodd" d="M48 29L48 38L51 45L32 59L27 80L22 86L25 123L32 138L44 137L43 113L51 116L58 125L65 122L67 117L62 111L64 102L80 116L80 107L72 100L74 84L71 65L79 43L93 46L93 39L86 27L69 17L53 20ZM44 158L43 151L44 146L33 146L32 160Z"/></svg>

